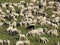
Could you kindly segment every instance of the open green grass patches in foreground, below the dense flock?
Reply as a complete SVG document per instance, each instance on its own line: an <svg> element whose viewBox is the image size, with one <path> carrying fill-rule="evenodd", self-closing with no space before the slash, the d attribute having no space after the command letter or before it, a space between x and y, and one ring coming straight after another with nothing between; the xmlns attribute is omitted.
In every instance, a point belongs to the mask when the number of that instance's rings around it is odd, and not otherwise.
<svg viewBox="0 0 60 45"><path fill-rule="evenodd" d="M26 34L29 31L23 27L17 27L17 28L19 30L21 30L22 33L24 33L24 34ZM0 27L0 39L3 39L3 40L8 39L11 41L11 45L14 45L16 43L16 41L18 41L15 39L17 36L12 36L12 35L6 34L6 29L7 29L7 26L5 26L5 25ZM56 37L50 37L47 34L45 34L43 36L48 38L50 42L47 44L39 43L36 41L38 39L37 36L36 37L31 36L31 37L28 37L28 39L31 41L31 45L52 45L54 42L57 42L57 41L60 42L60 37L57 37L57 38Z"/></svg>

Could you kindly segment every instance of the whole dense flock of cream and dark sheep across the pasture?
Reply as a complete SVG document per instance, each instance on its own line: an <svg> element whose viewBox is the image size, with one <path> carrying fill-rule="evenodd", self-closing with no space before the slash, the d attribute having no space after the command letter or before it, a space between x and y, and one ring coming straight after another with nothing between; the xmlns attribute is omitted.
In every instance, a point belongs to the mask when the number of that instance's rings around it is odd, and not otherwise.
<svg viewBox="0 0 60 45"><path fill-rule="evenodd" d="M45 10L52 9L51 16ZM49 43L49 39L42 37L48 34L51 37L59 37L60 27L60 2L50 0L30 0L30 3L0 3L0 26L6 25L6 34L18 35L15 45L31 45L28 37L39 37L40 43ZM36 28L41 25L44 28ZM29 29L26 34L17 29L17 26ZM50 29L49 29L50 28ZM10 45L10 40L0 39L0 45ZM59 42L53 45L60 45Z"/></svg>

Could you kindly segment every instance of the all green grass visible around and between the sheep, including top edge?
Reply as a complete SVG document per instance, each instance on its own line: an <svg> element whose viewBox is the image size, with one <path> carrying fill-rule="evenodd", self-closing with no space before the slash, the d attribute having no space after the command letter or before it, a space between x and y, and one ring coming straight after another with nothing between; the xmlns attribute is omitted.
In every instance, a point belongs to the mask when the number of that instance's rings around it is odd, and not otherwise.
<svg viewBox="0 0 60 45"><path fill-rule="evenodd" d="M0 0L0 2L2 2L2 3L4 3L4 2L18 3L20 1L21 0ZM28 1L28 0L26 0L26 1ZM48 13L47 17L50 17L51 13L52 13L52 9L48 9L48 10L46 10L46 12ZM43 26L36 25L36 28L39 28L39 27L43 27ZM14 45L18 41L18 40L15 39L17 36L7 35L6 34L6 29L7 28L8 27L5 26L5 25L0 27L0 39L2 39L2 40L8 39L8 40L11 41L11 45ZM25 29L24 27L19 27L19 26L17 27L17 29L21 30L22 33L24 33L24 34L26 34L29 31L28 29ZM59 32L59 34L60 34L60 32ZM36 37L31 36L31 37L28 37L28 39L31 41L31 45L52 45L54 42L57 42L57 41L60 42L60 37L57 37L57 38L56 37L49 37L47 34L45 34L43 36L47 37L50 42L47 43L47 44L39 43L39 42L36 41L37 38L38 38L37 36Z"/></svg>

